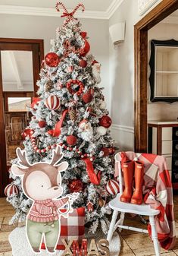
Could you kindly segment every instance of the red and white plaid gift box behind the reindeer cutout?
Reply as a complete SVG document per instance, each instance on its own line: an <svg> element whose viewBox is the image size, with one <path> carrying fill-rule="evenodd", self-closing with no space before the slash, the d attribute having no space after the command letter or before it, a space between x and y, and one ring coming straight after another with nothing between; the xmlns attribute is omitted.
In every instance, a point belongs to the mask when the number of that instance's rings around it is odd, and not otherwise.
<svg viewBox="0 0 178 256"><path fill-rule="evenodd" d="M62 212L62 210L60 209ZM82 240L85 234L85 208L80 207L73 209L73 213L69 213L68 218L61 216L61 235L58 241L57 250L64 250L65 246L61 239ZM42 243L42 249L45 245Z"/></svg>

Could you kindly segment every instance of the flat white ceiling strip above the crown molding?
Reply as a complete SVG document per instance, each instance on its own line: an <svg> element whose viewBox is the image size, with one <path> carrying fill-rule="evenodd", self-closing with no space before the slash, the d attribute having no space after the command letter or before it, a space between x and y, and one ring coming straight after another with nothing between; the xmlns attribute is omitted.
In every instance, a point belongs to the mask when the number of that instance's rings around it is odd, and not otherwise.
<svg viewBox="0 0 178 256"><path fill-rule="evenodd" d="M56 0L0 0L0 5L18 5L18 6L30 6L39 8L55 8ZM75 8L80 1L79 0L62 0L68 9ZM114 0L83 0L87 11L107 11L109 6Z"/></svg>

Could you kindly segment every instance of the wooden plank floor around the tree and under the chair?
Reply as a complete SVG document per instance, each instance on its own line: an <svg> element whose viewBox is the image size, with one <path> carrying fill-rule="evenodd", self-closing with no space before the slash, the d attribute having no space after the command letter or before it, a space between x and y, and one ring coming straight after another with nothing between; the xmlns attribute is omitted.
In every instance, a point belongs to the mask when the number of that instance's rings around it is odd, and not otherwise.
<svg viewBox="0 0 178 256"><path fill-rule="evenodd" d="M174 196L174 210L176 217L176 230L178 236L178 195ZM17 225L9 226L8 221L14 215L14 210L5 201L5 198L0 198L0 256L12 256L11 245L8 242L8 235L17 227ZM138 217L126 217L124 222L126 225L135 225L137 227L146 228ZM146 234L138 234L129 230L121 232L121 251L120 256L150 256L155 255L151 239ZM161 249L161 256L176 256L178 255L178 241L173 251L164 251ZM25 256L25 255L24 255Z"/></svg>

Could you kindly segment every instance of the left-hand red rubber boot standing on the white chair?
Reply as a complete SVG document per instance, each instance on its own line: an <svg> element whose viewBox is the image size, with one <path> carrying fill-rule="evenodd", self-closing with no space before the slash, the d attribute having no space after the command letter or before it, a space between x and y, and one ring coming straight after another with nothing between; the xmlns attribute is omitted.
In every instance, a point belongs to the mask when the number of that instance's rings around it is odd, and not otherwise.
<svg viewBox="0 0 178 256"><path fill-rule="evenodd" d="M133 194L133 172L135 168L134 161L126 161L123 163L123 180L125 183L125 189L120 196L120 201L124 203L130 203L130 199Z"/></svg>

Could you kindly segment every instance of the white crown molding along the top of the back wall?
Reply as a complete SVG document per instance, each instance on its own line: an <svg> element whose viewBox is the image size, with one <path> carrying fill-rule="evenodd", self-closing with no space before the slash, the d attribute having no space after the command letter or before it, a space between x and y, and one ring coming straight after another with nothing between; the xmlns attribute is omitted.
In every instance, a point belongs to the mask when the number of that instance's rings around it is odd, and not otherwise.
<svg viewBox="0 0 178 256"><path fill-rule="evenodd" d="M114 14L114 11L121 5L124 0L114 0L107 11L77 11L76 17L85 19L108 20ZM73 11L73 10L69 10ZM62 12L61 12L62 13ZM17 5L0 5L0 14L16 14L16 15L32 15L32 16L47 16L60 17L60 13L55 8L39 8L30 6Z"/></svg>

